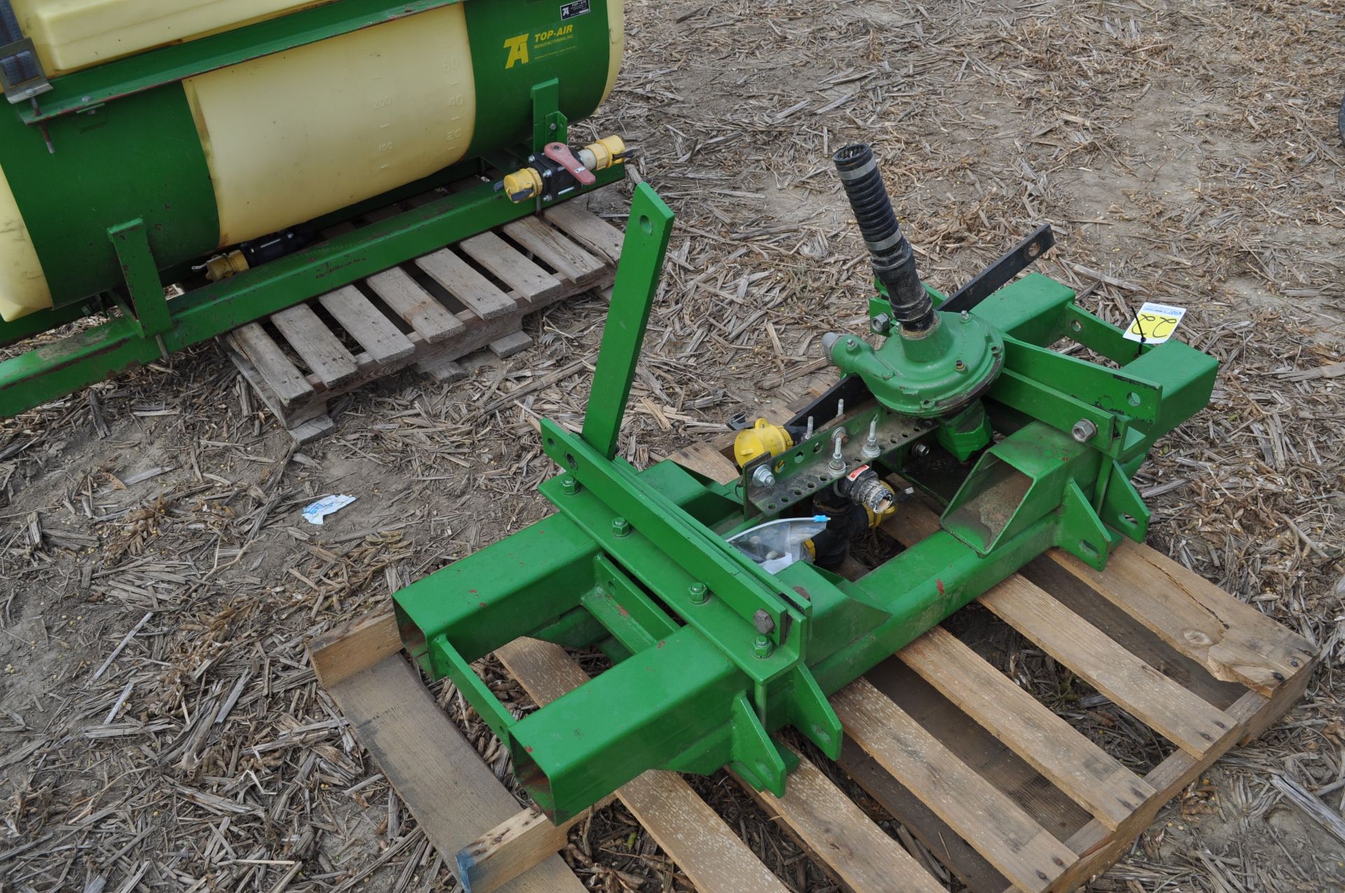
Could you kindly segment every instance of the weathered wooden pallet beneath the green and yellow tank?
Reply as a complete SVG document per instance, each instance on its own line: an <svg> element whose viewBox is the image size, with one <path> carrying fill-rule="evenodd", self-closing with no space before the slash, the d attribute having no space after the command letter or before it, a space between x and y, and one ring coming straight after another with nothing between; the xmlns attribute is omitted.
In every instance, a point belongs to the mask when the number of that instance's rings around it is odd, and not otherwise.
<svg viewBox="0 0 1345 893"><path fill-rule="evenodd" d="M359 222L401 210L379 208ZM323 234L352 229L343 223ZM560 204L247 323L222 340L257 395L304 442L331 430L334 397L371 381L408 366L453 381L465 375L455 360L467 354L490 347L503 358L527 348L523 317L609 286L621 238L596 214Z"/></svg>

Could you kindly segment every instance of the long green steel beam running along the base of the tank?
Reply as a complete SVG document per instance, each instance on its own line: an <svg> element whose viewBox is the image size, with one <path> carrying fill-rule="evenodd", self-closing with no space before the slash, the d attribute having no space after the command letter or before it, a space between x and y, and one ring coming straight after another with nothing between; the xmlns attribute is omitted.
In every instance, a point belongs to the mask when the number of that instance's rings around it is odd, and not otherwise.
<svg viewBox="0 0 1345 893"><path fill-rule="evenodd" d="M577 190L572 198L615 183L624 175L621 165L596 171L597 182ZM140 319L117 316L0 363L0 416L16 416L157 360L165 351L175 352L223 335L243 323L529 217L534 211L533 204L514 204L490 183L480 183L172 299L165 303L169 325L161 332L147 334L149 328L161 327L163 319L155 315L157 311L152 307L152 299L141 307L143 301L137 296L133 304ZM152 288L161 293L157 276L151 288L148 277L141 274L143 258L137 260L139 247L132 243L134 231L134 222L128 222L109 233L118 254L126 251L121 257L130 277L128 282L139 295L147 295ZM20 323L36 320L46 312L48 311L34 313ZM148 328L143 331L144 323L148 323Z"/></svg>

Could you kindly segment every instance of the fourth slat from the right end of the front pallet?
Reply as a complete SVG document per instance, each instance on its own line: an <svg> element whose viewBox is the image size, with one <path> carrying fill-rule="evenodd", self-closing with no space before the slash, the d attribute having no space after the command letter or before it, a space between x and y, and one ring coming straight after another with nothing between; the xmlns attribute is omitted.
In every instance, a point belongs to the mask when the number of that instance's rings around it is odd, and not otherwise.
<svg viewBox="0 0 1345 893"><path fill-rule="evenodd" d="M1033 893L1076 855L866 679L831 698L846 734L1005 877Z"/></svg>

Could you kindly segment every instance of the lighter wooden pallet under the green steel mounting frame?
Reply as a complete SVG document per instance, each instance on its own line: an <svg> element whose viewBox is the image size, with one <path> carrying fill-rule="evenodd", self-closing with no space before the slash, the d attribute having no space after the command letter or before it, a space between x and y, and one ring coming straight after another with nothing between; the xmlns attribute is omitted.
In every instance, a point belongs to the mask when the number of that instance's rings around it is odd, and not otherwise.
<svg viewBox="0 0 1345 893"><path fill-rule="evenodd" d="M705 445L675 459L721 480L734 473ZM913 542L936 526L912 502L885 530ZM936 627L831 698L847 734L839 767L921 858L807 757L784 798L745 785L849 889L943 890L931 857L975 893L1075 889L1205 767L1298 701L1315 666L1306 640L1147 546L1123 545L1103 573L1052 550L979 601L1171 753L1132 772ZM495 654L538 703L585 679L553 644L521 639ZM389 612L312 642L309 656L465 889L582 889L555 855L568 826L516 808L401 654ZM699 890L785 889L681 776L646 772L615 798Z"/></svg>

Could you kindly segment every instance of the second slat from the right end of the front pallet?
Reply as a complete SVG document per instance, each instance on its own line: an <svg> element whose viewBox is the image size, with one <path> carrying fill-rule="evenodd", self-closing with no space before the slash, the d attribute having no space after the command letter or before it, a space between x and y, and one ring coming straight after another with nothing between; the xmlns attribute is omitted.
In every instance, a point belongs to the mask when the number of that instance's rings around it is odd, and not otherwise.
<svg viewBox="0 0 1345 893"><path fill-rule="evenodd" d="M1122 648L1026 578L1009 577L982 596L981 604L1184 750L1200 757L1236 734L1236 724L1223 710Z"/></svg>

